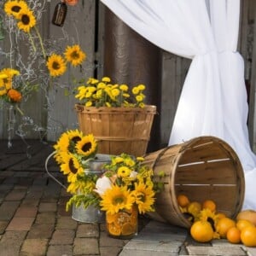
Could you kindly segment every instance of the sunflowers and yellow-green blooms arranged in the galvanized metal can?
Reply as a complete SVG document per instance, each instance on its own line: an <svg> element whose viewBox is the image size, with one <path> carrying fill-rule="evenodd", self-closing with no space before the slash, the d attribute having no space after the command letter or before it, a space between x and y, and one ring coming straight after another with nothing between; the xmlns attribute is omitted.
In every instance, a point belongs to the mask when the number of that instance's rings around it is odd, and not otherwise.
<svg viewBox="0 0 256 256"><path fill-rule="evenodd" d="M74 204L84 207L98 204L97 172L90 172L90 163L96 159L96 140L92 134L70 130L61 134L54 145L54 158L61 172L67 176L67 192L73 196L67 201L67 210Z"/></svg>

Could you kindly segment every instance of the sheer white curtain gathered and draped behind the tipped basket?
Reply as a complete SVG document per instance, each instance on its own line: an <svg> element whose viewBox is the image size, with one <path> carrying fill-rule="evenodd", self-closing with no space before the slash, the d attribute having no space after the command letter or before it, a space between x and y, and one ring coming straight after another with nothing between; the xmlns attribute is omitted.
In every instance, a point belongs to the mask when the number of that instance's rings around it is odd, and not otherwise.
<svg viewBox="0 0 256 256"><path fill-rule="evenodd" d="M191 58L169 144L220 137L245 170L244 207L256 208L256 157L247 134L243 60L236 51L239 0L102 0L132 29L166 51ZM248 178L249 177L249 178Z"/></svg>

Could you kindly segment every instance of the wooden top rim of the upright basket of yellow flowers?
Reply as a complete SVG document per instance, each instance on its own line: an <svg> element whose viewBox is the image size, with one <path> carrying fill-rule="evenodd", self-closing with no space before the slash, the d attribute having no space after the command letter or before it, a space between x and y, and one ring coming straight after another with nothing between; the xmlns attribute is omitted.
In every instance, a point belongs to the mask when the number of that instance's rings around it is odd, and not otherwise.
<svg viewBox="0 0 256 256"><path fill-rule="evenodd" d="M156 113L156 106L145 105L144 108L131 108L131 107L85 107L83 104L75 104L75 110L79 113Z"/></svg>

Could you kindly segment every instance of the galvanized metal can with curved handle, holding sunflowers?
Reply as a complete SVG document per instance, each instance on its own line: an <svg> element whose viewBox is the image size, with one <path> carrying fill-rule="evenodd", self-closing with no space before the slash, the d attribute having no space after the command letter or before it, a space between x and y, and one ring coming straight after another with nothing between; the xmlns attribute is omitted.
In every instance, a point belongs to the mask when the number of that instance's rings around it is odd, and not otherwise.
<svg viewBox="0 0 256 256"><path fill-rule="evenodd" d="M45 170L48 173L49 177L52 177L56 183L59 183L64 189L67 189L67 187L64 184L57 180L48 171L48 160L52 155L54 155L54 153L50 154L47 160L45 161ZM89 162L90 167L84 170L84 172L88 174L96 174L100 177L104 172L102 170L102 166L106 163L109 163L110 161L110 154L96 154L96 158ZM102 212L98 207L94 206L84 208L83 205L81 205L80 207L75 207L73 205L72 218L76 221L84 223L103 223L105 222L105 212Z"/></svg>

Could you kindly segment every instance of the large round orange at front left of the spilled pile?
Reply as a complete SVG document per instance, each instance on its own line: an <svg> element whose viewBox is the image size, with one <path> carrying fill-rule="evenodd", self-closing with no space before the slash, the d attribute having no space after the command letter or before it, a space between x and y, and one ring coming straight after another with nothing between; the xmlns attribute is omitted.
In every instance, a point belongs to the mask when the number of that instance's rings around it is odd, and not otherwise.
<svg viewBox="0 0 256 256"><path fill-rule="evenodd" d="M192 224L190 228L190 235L195 239L195 241L211 241L213 234L212 225L207 221L198 220Z"/></svg>

